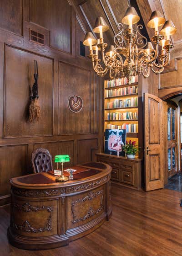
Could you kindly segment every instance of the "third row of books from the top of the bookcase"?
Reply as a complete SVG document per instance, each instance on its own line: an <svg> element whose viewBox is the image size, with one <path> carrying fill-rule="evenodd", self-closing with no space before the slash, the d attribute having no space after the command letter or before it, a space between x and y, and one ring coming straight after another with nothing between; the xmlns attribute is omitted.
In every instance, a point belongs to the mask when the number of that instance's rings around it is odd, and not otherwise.
<svg viewBox="0 0 182 256"><path fill-rule="evenodd" d="M117 107L137 107L138 97L131 97L131 99L119 100L107 102L107 108L117 108Z"/></svg>

